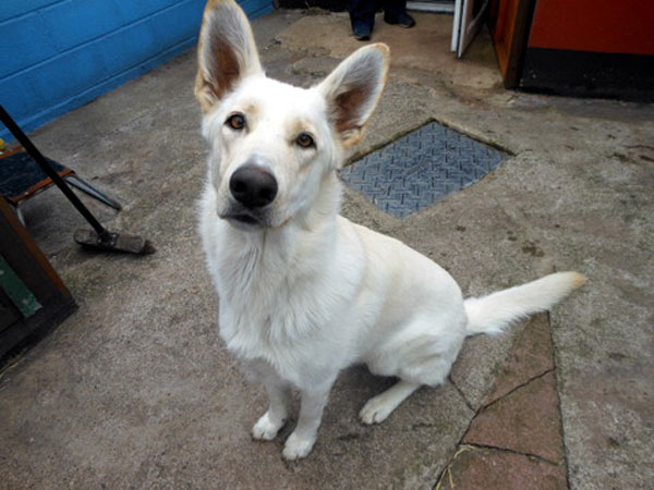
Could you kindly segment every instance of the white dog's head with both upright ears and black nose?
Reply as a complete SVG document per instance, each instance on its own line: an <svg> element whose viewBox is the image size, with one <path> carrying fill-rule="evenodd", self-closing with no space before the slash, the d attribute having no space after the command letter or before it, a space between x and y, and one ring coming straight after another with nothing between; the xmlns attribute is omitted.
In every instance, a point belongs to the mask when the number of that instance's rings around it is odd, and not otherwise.
<svg viewBox="0 0 654 490"><path fill-rule="evenodd" d="M308 209L363 136L388 65L388 48L379 44L359 49L308 89L274 81L262 70L243 11L232 0L209 0L195 96L220 218L257 230Z"/></svg>

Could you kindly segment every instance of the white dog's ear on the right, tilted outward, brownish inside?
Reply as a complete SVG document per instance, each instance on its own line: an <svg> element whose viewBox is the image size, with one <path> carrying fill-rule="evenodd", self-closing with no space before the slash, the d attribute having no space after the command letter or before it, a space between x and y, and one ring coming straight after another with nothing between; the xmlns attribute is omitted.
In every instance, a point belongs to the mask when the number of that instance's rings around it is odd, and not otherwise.
<svg viewBox="0 0 654 490"><path fill-rule="evenodd" d="M388 46L366 46L350 54L318 85L344 147L356 144L363 136L386 84L389 64Z"/></svg>

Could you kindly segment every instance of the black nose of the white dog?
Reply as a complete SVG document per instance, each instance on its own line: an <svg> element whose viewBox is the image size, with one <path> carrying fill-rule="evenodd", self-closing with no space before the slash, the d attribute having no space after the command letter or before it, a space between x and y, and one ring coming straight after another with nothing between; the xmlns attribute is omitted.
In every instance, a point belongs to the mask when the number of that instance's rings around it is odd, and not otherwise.
<svg viewBox="0 0 654 490"><path fill-rule="evenodd" d="M277 196L277 181L267 170L247 164L232 174L229 189L234 199L246 208L263 208Z"/></svg>

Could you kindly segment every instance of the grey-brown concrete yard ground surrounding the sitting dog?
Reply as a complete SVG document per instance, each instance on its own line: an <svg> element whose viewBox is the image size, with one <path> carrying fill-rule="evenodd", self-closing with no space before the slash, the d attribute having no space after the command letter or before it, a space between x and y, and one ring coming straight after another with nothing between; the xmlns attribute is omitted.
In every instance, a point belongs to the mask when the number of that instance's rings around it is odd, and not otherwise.
<svg viewBox="0 0 654 490"><path fill-rule="evenodd" d="M313 453L284 463L290 428L250 439L266 399L217 332L187 52L33 135L123 203L85 198L111 229L158 253L78 249L83 221L55 189L25 205L80 309L0 375L0 488L651 488L654 108L505 90L487 35L457 61L451 17L416 20L378 20L393 61L359 151L436 119L512 157L407 219L352 192L343 213L437 260L467 295L554 269L589 283L509 334L467 341L445 385L380 426L356 414L391 381L347 370ZM361 46L344 14L279 11L254 29L268 73L305 86Z"/></svg>

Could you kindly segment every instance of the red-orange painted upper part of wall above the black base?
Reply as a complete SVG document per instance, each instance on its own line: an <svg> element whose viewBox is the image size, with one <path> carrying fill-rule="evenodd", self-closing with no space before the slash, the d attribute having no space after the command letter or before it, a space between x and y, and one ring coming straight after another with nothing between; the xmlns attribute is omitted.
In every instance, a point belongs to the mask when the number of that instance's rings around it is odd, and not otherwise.
<svg viewBox="0 0 654 490"><path fill-rule="evenodd" d="M654 54L654 0L537 0L529 47Z"/></svg>

